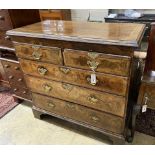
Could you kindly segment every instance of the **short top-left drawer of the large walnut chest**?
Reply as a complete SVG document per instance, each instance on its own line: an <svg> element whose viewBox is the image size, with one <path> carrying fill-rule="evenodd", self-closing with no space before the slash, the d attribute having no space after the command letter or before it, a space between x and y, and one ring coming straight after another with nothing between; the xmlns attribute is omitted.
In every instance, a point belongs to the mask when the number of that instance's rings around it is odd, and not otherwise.
<svg viewBox="0 0 155 155"><path fill-rule="evenodd" d="M30 44L14 44L16 54L20 58L43 61L53 64L62 64L61 49Z"/></svg>

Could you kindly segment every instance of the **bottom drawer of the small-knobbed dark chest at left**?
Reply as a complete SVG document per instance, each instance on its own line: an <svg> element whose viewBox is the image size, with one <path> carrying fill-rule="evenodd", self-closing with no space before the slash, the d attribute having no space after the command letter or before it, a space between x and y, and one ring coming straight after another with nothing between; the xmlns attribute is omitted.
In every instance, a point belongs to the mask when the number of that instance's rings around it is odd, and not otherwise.
<svg viewBox="0 0 155 155"><path fill-rule="evenodd" d="M25 98L27 100L32 100L31 93L28 89L13 85L11 85L11 89L15 95Z"/></svg>

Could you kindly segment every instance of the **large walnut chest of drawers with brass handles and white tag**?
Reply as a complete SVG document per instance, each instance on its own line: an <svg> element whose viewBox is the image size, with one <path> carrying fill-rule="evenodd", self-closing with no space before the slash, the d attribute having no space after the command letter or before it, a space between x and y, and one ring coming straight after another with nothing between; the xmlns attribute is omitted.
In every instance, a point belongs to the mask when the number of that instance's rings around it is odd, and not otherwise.
<svg viewBox="0 0 155 155"><path fill-rule="evenodd" d="M35 117L49 114L127 138L135 48L143 24L44 21L10 30Z"/></svg>

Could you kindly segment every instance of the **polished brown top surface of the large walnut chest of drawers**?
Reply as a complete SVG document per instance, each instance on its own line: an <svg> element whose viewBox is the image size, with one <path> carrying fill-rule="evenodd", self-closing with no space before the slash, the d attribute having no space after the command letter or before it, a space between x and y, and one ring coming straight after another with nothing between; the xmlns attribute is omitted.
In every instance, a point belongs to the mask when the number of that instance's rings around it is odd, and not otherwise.
<svg viewBox="0 0 155 155"><path fill-rule="evenodd" d="M144 24L46 20L7 32L12 36L138 47Z"/></svg>

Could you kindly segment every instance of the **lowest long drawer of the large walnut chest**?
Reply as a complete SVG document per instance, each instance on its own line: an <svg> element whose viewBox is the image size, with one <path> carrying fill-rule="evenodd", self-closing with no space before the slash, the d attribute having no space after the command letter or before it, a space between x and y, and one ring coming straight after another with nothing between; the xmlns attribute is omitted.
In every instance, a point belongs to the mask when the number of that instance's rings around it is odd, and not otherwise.
<svg viewBox="0 0 155 155"><path fill-rule="evenodd" d="M33 104L46 111L83 122L100 129L123 133L123 119L74 103L33 94Z"/></svg>

